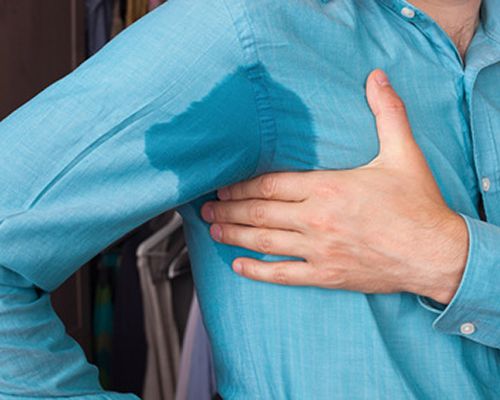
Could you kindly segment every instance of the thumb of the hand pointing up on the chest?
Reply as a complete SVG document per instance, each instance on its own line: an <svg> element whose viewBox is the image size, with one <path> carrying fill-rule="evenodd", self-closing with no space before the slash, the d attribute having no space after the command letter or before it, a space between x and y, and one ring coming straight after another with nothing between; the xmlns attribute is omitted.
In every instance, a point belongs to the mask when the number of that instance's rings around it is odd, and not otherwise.
<svg viewBox="0 0 500 400"><path fill-rule="evenodd" d="M413 138L405 105L392 88L387 75L380 69L371 72L366 82L366 97L375 116L380 153L377 157L390 162L421 157Z"/></svg>

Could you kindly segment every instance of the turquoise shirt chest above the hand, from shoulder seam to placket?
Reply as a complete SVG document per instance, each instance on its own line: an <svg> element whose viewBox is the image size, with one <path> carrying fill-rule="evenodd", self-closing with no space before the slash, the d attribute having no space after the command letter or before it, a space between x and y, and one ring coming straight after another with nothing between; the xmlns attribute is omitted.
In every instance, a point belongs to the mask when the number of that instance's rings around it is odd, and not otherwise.
<svg viewBox="0 0 500 400"><path fill-rule="evenodd" d="M445 200L474 215L484 177L500 181L500 65L467 74L437 27L425 32L376 4L269 4L276 10L255 27L276 121L268 170L350 169L372 160L379 142L364 85L382 68ZM486 201L490 216L494 203Z"/></svg>

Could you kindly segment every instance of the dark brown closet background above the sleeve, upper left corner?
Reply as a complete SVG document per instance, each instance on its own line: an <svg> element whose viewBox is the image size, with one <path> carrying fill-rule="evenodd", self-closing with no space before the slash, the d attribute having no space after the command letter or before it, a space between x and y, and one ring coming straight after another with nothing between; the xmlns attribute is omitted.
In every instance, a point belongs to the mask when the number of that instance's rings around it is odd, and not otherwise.
<svg viewBox="0 0 500 400"><path fill-rule="evenodd" d="M162 0L0 0L0 119Z"/></svg>

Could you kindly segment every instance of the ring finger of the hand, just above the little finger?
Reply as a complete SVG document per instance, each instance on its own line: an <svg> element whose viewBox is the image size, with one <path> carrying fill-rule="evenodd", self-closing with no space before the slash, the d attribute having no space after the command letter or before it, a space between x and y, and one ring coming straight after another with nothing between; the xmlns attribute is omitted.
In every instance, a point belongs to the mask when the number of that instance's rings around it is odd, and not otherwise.
<svg viewBox="0 0 500 400"><path fill-rule="evenodd" d="M278 229L250 228L231 224L215 224L210 235L218 242L273 255L306 258L304 236L297 232Z"/></svg>

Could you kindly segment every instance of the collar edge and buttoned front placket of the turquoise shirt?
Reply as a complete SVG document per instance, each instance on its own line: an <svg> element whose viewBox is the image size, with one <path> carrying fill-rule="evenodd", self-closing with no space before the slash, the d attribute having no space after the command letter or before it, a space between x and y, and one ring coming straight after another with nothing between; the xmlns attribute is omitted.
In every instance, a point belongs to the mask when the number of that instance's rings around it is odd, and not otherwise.
<svg viewBox="0 0 500 400"><path fill-rule="evenodd" d="M485 220L500 223L500 145L495 140L495 127L491 121L497 118L480 95L481 71L500 61L500 45L485 35L480 25L468 50L464 64L455 44L449 36L426 14L404 0L380 0L400 18L413 24L432 42L443 65L455 76L457 98L464 104L462 134L470 143L474 160L477 187L481 194L479 214ZM444 118L446 116L443 116ZM458 133L458 132L457 132ZM498 135L498 132L497 132Z"/></svg>

